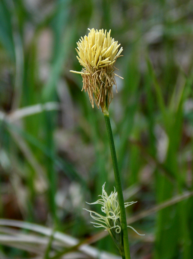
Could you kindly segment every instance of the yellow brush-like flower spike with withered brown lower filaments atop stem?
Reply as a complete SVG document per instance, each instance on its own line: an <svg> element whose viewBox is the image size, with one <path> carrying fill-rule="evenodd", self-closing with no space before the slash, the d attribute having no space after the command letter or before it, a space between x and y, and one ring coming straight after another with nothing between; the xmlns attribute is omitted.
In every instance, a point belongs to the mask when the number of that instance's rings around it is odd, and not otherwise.
<svg viewBox="0 0 193 259"><path fill-rule="evenodd" d="M113 98L113 85L117 85L114 76L115 62L120 57L123 48L110 37L111 30L88 29L88 36L81 37L77 42L78 61L82 65L82 71L72 71L82 75L83 88L88 92L92 108L94 101L103 113L108 112L109 104ZM118 76L118 75L117 75ZM118 76L119 77L119 76ZM121 77L122 78L122 77ZM93 98L94 94L94 98Z"/></svg>

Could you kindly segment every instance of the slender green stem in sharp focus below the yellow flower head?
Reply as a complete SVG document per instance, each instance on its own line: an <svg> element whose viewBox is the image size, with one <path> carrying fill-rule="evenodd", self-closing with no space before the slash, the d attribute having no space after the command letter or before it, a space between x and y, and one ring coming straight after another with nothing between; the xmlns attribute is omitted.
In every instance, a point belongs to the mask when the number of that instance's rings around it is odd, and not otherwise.
<svg viewBox="0 0 193 259"><path fill-rule="evenodd" d="M127 232L126 213L125 213L125 206L124 206L124 200L123 200L123 191L121 188L121 180L120 180L119 169L118 169L118 164L117 164L117 156L116 156L116 152L115 152L113 133L112 133L112 129L111 129L109 113L103 112L103 114L105 116L105 122L106 122L106 126L107 126L107 133L108 133L110 149L111 149L111 157L112 157L112 161L113 161L113 171L114 171L114 175L115 175L115 184L116 184L117 194L118 194L118 199L119 199L120 222L121 222L121 229L123 231L123 245L124 245L125 259L131 259L130 250L129 250L128 232Z"/></svg>

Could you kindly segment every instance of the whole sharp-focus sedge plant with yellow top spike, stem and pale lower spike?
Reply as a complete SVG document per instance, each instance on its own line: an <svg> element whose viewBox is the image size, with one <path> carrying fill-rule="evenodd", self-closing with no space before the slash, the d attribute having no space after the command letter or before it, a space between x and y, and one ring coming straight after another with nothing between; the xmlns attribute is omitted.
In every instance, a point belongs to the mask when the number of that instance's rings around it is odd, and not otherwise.
<svg viewBox="0 0 193 259"><path fill-rule="evenodd" d="M104 213L103 215L94 211L88 211L90 212L90 216L97 221L92 222L94 226L104 227L111 235L122 258L130 259L127 227L132 227L127 226L125 207L128 207L135 202L132 201L124 203L123 200L115 145L109 120L109 104L113 98L113 85L115 85L117 90L115 76L120 77L114 73L116 69L115 62L117 58L122 56L121 52L123 48L121 47L119 49L120 44L112 39L110 36L111 30L109 32L106 30L104 31L103 29L95 31L94 28L88 30L90 31L88 36L85 35L84 38L81 37L77 42L77 58L82 66L82 71L77 72L71 70L71 72L82 75L82 90L84 89L85 92L88 92L92 108L94 107L95 102L98 108L101 106L102 112L105 116L111 157L113 161L115 186L117 189L117 192L114 189L114 192L111 192L108 196L105 191L104 184L102 187L101 199L94 203L89 203L102 205L101 210ZM134 228L132 229L134 230Z"/></svg>

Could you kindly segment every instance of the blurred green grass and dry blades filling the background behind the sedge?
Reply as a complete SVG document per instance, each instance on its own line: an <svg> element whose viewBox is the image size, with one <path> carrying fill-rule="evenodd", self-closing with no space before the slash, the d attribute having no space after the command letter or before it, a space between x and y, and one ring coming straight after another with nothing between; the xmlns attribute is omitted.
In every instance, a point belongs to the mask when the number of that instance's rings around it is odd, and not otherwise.
<svg viewBox="0 0 193 259"><path fill-rule="evenodd" d="M82 69L76 41L93 27L123 47L110 118L125 201L138 201L128 222L145 234L128 229L131 257L192 259L190 0L0 1L0 258L117 254L82 210L100 211L85 201L115 185L103 114L69 72ZM65 234L94 242L95 257Z"/></svg>

